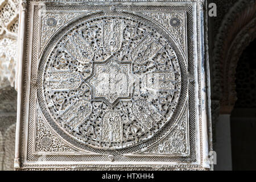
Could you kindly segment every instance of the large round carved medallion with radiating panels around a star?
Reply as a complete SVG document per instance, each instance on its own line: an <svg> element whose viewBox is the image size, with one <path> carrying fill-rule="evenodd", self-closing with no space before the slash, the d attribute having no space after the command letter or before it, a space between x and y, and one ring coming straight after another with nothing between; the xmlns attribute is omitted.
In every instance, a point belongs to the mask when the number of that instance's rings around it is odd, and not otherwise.
<svg viewBox="0 0 256 182"><path fill-rule="evenodd" d="M43 95L52 118L96 148L151 138L172 117L180 92L180 67L168 41L150 26L118 16L73 27L44 68Z"/></svg>

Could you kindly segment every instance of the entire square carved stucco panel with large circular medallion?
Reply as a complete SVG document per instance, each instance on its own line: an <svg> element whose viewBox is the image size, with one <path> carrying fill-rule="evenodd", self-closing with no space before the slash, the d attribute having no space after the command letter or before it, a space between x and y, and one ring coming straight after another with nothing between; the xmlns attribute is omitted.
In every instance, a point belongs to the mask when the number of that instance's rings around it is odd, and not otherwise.
<svg viewBox="0 0 256 182"><path fill-rule="evenodd" d="M149 2L55 3L23 3L33 31L23 39L30 79L19 141L27 147L16 168L47 167L42 160L63 163L56 169L72 160L79 163L74 169L209 168L207 121L197 111L204 78L193 74L204 46L195 26L203 3L152 2L163 11Z"/></svg>

